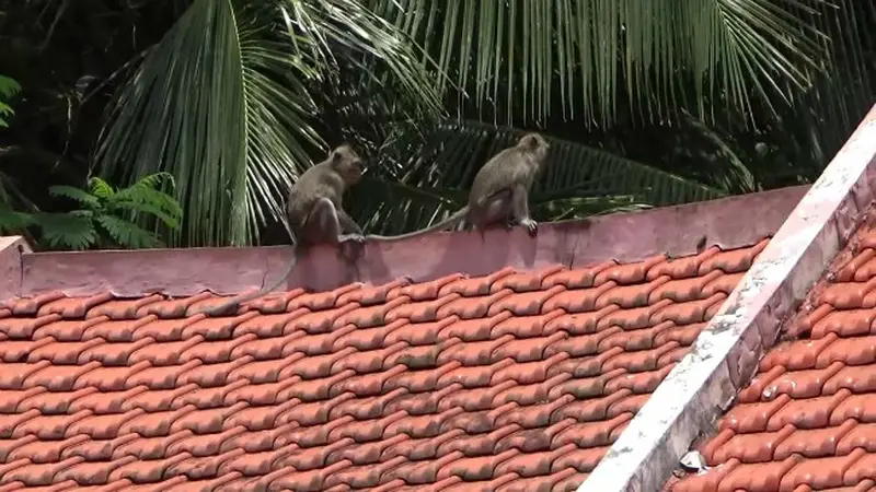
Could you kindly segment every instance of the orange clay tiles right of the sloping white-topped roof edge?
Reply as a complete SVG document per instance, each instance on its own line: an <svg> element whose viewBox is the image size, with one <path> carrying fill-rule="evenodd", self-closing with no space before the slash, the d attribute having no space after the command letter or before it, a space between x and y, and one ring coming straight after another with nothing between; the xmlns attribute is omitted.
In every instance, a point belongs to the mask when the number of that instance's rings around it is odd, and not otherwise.
<svg viewBox="0 0 876 492"><path fill-rule="evenodd" d="M672 492L876 490L876 231L814 289ZM858 248L858 249L853 249Z"/></svg>

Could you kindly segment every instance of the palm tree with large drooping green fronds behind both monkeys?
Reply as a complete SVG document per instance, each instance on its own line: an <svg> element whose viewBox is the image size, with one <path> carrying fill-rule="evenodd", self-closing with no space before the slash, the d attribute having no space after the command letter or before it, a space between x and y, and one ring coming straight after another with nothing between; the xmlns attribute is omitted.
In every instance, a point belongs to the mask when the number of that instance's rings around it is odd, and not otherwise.
<svg viewBox="0 0 876 492"><path fill-rule="evenodd" d="M350 209L380 233L456 208L523 127L565 137L539 219L751 191L740 145L711 125L775 121L823 81L826 26L857 22L839 1L193 0L119 91L95 162L122 186L172 174L187 245L258 242L342 139L370 157ZM727 159L692 178L583 144L620 120L681 121Z"/></svg>

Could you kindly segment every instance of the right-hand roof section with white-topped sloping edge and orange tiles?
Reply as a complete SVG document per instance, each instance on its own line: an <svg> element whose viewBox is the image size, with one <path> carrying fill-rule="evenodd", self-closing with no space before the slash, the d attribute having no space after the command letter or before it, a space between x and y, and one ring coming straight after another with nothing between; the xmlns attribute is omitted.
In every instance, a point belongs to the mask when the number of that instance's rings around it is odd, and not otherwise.
<svg viewBox="0 0 876 492"><path fill-rule="evenodd" d="M849 418L872 423L869 401L863 398L871 391L865 368L872 363L871 319L866 312L855 311L855 303L872 307L868 273L862 270L871 268L869 259L876 255L864 253L857 258L866 260L863 265L849 261L876 244L869 231L876 203L875 164L876 106L579 492L874 490L866 479L876 472L864 470L869 457L861 449L871 448L866 438L856 441L852 447L858 449L849 455L809 456L832 453L826 449L843 443L845 432L853 427ZM845 276L854 271L862 283L814 290L823 278L846 282L834 278L841 270ZM832 338L830 333L837 339L829 347L828 340L807 340L774 349L780 339L827 339ZM846 340L851 335L864 338ZM837 418L843 395L852 408L841 414L838 429L831 419ZM721 430L716 429L719 420ZM707 444L700 444L702 438ZM680 465L696 468L696 459L682 460L690 446L703 449L713 465L726 462L678 482L672 477L683 476ZM797 466L804 457L806 465ZM857 459L855 466L864 472L855 480L849 467ZM834 487L844 481L856 485Z"/></svg>

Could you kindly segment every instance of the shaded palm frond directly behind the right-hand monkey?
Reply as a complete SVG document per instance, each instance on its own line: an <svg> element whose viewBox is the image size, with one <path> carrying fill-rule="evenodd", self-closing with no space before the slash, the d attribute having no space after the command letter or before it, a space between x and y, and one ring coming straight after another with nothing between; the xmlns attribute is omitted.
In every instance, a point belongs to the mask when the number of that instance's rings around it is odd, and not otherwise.
<svg viewBox="0 0 876 492"><path fill-rule="evenodd" d="M420 229L462 207L481 166L502 149L516 144L525 130L476 121L445 121L423 141L404 129L399 133L377 171L350 192L350 213L365 229L378 234ZM405 139L402 137L405 134L411 137ZM537 220L584 216L620 206L684 203L725 195L718 188L606 151L545 137L551 153L530 197ZM374 196L382 199L373 200ZM587 207L551 204L585 198Z"/></svg>

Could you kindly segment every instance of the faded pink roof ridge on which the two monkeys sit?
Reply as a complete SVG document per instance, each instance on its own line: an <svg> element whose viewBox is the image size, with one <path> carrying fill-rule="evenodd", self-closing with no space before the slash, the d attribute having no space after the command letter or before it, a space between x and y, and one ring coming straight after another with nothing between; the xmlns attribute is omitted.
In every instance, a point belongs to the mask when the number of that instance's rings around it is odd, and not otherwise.
<svg viewBox="0 0 876 492"><path fill-rule="evenodd" d="M612 258L637 261L661 253L689 256L708 245L749 246L775 232L807 189L796 186L544 223L534 238L515 229L486 231L483 239L471 232L450 232L369 242L350 263L341 261L333 248L314 247L296 266L287 288L326 291L350 282L378 284L403 277L422 282L458 272L489 274L506 267L576 268ZM68 295L235 294L278 280L290 255L288 246L24 253L5 259L20 262L23 273L0 284L0 302L57 290ZM8 268L3 259L0 249L0 270Z"/></svg>

